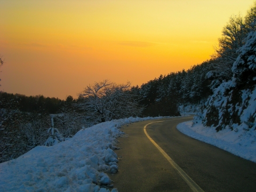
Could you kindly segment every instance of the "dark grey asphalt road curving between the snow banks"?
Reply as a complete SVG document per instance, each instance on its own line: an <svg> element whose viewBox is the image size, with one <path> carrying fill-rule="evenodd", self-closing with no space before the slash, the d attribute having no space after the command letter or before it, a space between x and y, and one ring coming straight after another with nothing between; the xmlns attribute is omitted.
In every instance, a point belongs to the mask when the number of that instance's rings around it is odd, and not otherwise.
<svg viewBox="0 0 256 192"><path fill-rule="evenodd" d="M158 119L122 127L119 171L109 175L125 191L192 191L143 131L204 191L256 191L256 163L180 133L177 124L191 117Z"/></svg>

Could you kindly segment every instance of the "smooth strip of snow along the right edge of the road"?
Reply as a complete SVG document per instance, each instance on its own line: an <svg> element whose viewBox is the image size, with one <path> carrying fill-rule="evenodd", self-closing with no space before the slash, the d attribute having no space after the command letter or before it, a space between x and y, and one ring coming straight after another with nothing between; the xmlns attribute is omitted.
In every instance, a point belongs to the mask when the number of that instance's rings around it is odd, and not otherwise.
<svg viewBox="0 0 256 192"><path fill-rule="evenodd" d="M256 131L244 129L243 125L235 130L223 129L216 132L216 127L206 127L193 121L180 123L177 129L191 138L209 143L239 157L256 163Z"/></svg>

